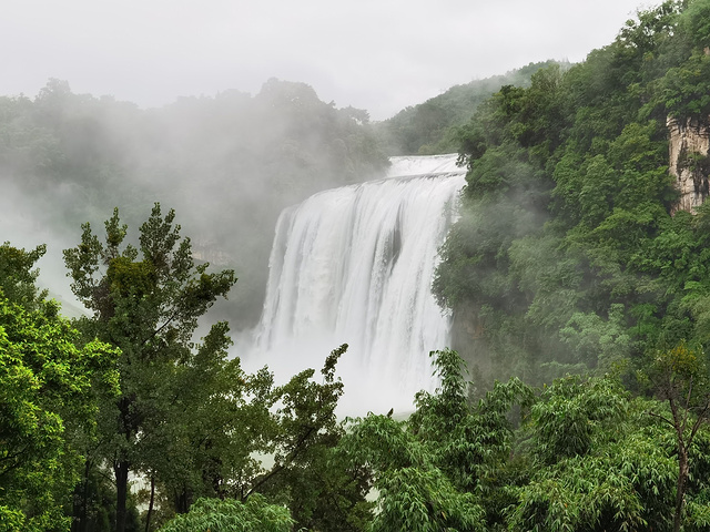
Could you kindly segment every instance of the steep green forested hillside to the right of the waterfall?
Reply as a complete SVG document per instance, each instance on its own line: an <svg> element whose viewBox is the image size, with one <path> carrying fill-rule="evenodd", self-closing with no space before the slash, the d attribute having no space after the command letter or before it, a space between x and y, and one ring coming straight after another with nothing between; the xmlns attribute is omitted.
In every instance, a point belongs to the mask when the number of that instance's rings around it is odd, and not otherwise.
<svg viewBox="0 0 710 532"><path fill-rule="evenodd" d="M584 63L505 86L462 130L468 184L434 288L486 379L629 374L657 349L709 347L710 212L676 212L669 168L673 124L708 131L708 9L642 12ZM698 196L707 160L678 163Z"/></svg>

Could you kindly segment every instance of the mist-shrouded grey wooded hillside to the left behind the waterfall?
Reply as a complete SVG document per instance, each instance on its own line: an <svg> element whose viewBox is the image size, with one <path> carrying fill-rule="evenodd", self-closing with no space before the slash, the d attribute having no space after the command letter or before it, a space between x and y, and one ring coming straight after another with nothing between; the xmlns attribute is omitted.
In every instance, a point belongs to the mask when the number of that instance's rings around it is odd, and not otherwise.
<svg viewBox="0 0 710 532"><path fill-rule="evenodd" d="M237 327L261 313L282 208L387 164L365 111L336 109L304 83L272 79L254 96L226 91L149 110L59 80L34 100L0 98L6 229L37 235L33 245L49 239L59 255L81 223L113 207L138 225L154 202L173 206L196 255L248 279L226 310Z"/></svg>

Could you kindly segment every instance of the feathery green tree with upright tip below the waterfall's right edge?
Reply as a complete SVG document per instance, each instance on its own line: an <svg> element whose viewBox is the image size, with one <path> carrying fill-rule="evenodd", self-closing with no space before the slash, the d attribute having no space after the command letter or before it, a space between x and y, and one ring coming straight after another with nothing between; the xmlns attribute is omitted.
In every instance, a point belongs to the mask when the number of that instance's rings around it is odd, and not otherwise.
<svg viewBox="0 0 710 532"><path fill-rule="evenodd" d="M417 393L409 420L368 415L339 448L372 472L378 511L371 530L493 530L513 502L504 480L513 451L508 418L531 391L511 379L471 405L458 354L430 355L440 386Z"/></svg>

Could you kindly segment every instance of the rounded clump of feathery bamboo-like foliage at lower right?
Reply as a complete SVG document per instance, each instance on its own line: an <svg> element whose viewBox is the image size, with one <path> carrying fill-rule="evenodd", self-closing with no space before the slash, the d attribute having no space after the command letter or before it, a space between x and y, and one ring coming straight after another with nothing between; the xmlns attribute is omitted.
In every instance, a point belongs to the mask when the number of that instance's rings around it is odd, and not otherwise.
<svg viewBox="0 0 710 532"><path fill-rule="evenodd" d="M646 408L610 378L545 387L520 434L530 460L509 530L667 530L672 450Z"/></svg>

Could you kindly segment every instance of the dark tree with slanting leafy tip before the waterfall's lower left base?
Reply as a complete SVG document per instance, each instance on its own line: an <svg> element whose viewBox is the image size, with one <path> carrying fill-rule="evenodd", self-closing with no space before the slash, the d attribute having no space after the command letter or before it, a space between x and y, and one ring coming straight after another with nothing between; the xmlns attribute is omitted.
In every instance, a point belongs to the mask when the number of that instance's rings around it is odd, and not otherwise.
<svg viewBox="0 0 710 532"><path fill-rule="evenodd" d="M346 349L344 344L326 357L322 382L306 369L274 390L280 405L271 442L274 466L242 495L263 493L286 504L297 530L359 531L371 507L367 471L335 450L345 433L335 416L343 395L335 369Z"/></svg>

